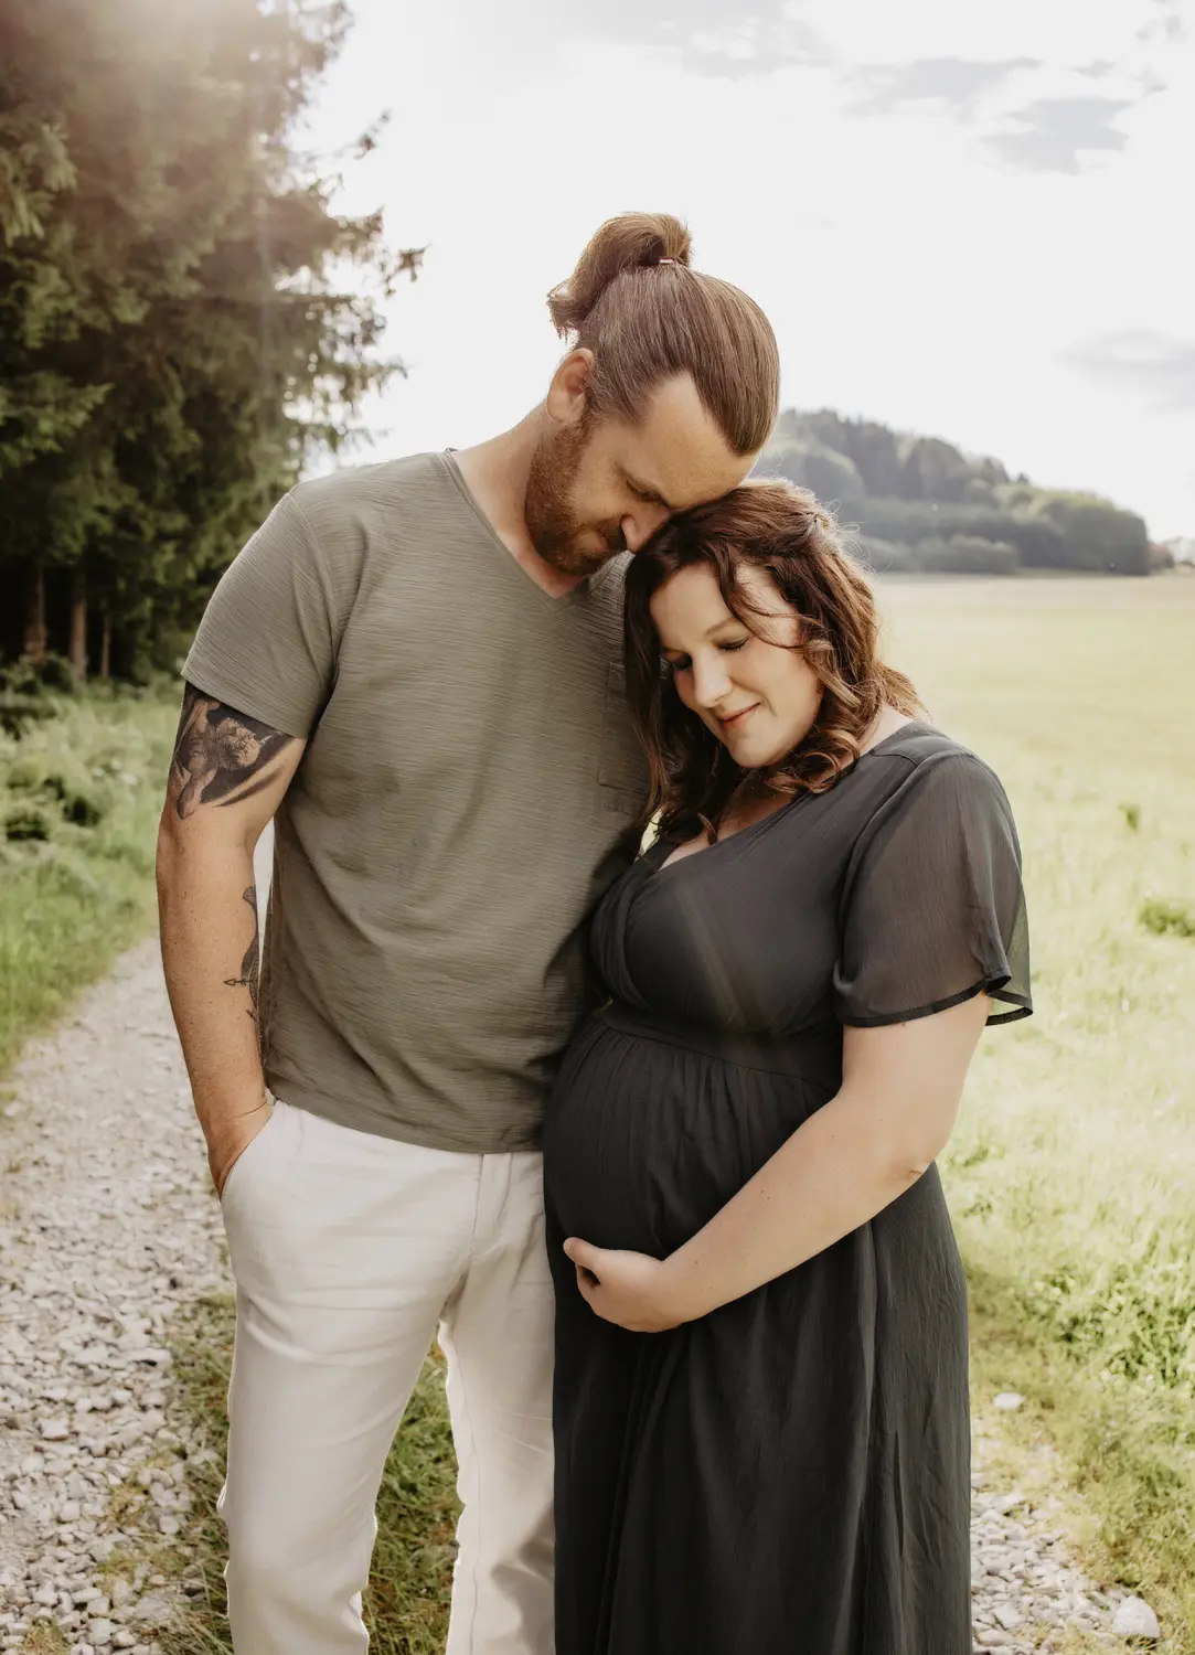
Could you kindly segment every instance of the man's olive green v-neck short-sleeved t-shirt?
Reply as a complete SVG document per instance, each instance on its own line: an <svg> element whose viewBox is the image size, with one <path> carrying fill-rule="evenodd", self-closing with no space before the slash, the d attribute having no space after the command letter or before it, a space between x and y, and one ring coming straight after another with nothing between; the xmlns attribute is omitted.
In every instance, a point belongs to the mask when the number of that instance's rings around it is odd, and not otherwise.
<svg viewBox="0 0 1195 1655"><path fill-rule="evenodd" d="M262 970L278 1097L432 1149L536 1147L645 789L624 564L550 597L425 453L301 483L225 573L185 679L308 738Z"/></svg>

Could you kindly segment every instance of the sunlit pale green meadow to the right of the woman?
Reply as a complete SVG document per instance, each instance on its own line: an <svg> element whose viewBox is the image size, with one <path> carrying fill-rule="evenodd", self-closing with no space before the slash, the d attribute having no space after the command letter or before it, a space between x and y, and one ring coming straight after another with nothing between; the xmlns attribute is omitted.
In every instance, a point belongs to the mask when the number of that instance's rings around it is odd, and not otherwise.
<svg viewBox="0 0 1195 1655"><path fill-rule="evenodd" d="M945 1158L977 1400L1015 1389L1092 1566L1195 1650L1195 579L882 588L890 654L1005 780L1038 1015Z"/></svg>

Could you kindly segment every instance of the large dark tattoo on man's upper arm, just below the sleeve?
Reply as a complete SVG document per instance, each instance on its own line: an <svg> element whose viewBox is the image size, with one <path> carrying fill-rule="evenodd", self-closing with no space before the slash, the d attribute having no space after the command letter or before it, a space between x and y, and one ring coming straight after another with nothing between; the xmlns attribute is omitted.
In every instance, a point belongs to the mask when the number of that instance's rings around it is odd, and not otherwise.
<svg viewBox="0 0 1195 1655"><path fill-rule="evenodd" d="M293 740L189 684L170 761L170 796L179 821L200 804L238 804L268 788L275 758Z"/></svg>

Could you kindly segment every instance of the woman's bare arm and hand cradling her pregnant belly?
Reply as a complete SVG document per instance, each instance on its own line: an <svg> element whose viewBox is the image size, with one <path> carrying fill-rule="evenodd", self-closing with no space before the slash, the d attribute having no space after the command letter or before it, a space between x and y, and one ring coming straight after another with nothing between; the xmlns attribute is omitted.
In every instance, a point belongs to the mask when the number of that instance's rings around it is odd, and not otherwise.
<svg viewBox="0 0 1195 1655"><path fill-rule="evenodd" d="M593 1309L660 1332L823 1253L904 1195L950 1137L988 1016L977 995L887 1028L847 1028L842 1087L670 1258L566 1243Z"/></svg>

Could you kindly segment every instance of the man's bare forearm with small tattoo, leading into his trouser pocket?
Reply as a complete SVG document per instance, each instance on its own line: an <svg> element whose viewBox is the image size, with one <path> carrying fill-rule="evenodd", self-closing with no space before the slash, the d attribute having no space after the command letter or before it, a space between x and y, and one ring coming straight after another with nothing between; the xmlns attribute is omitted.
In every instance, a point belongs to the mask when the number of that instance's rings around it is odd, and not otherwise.
<svg viewBox="0 0 1195 1655"><path fill-rule="evenodd" d="M162 965L214 1162L265 1104L253 856L167 818L157 851Z"/></svg>

